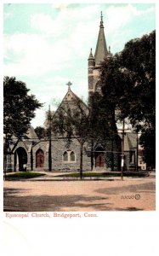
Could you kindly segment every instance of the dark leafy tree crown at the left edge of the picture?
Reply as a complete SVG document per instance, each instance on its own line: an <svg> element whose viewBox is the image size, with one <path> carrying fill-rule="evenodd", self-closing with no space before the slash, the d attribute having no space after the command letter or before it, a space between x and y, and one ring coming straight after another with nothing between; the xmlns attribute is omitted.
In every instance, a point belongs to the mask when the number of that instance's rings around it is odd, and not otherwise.
<svg viewBox="0 0 159 256"><path fill-rule="evenodd" d="M36 97L29 94L29 89L22 81L14 77L4 77L3 80L3 132L12 137L22 137L26 134L35 110L43 106Z"/></svg>

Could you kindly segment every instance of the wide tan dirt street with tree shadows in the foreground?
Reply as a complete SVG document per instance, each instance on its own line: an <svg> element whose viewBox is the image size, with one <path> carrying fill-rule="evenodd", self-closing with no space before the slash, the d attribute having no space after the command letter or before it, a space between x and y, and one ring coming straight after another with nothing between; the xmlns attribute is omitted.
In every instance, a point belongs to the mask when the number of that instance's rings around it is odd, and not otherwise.
<svg viewBox="0 0 159 256"><path fill-rule="evenodd" d="M154 211L155 177L4 182L5 212Z"/></svg>

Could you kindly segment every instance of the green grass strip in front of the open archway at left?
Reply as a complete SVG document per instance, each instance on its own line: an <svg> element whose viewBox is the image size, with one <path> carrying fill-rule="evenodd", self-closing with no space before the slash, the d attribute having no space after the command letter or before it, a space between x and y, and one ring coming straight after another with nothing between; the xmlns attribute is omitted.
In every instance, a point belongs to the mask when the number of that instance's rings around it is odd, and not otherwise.
<svg viewBox="0 0 159 256"><path fill-rule="evenodd" d="M25 178L31 178L31 177L39 177L45 175L44 173L39 172L14 172L14 173L7 173L6 179L12 180L12 179L25 179Z"/></svg>

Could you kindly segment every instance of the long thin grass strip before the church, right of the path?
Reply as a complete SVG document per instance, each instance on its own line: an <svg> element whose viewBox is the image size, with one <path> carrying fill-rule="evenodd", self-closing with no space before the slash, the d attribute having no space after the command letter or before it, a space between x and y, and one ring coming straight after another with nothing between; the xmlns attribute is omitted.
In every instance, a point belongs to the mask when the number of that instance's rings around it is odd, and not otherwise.
<svg viewBox="0 0 159 256"><path fill-rule="evenodd" d="M125 172L123 177L145 177L145 172ZM79 172L67 173L56 177L80 177ZM120 172L83 172L82 177L121 177Z"/></svg>

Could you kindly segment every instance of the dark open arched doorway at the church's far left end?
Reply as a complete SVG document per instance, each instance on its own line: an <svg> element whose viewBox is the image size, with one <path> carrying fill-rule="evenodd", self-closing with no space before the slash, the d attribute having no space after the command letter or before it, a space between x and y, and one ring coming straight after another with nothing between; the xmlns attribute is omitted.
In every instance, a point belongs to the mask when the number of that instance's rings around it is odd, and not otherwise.
<svg viewBox="0 0 159 256"><path fill-rule="evenodd" d="M25 171L24 165L27 164L27 153L25 148L17 148L14 152L14 171Z"/></svg>

